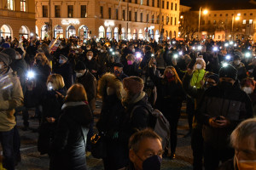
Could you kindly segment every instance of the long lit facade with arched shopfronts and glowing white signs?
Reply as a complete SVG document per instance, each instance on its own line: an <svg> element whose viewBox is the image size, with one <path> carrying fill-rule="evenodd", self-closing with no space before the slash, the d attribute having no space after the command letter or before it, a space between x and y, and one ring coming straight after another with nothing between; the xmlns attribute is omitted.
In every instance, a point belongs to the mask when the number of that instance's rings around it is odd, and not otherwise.
<svg viewBox="0 0 256 170"><path fill-rule="evenodd" d="M35 4L42 39L177 37L179 0L36 0Z"/></svg>

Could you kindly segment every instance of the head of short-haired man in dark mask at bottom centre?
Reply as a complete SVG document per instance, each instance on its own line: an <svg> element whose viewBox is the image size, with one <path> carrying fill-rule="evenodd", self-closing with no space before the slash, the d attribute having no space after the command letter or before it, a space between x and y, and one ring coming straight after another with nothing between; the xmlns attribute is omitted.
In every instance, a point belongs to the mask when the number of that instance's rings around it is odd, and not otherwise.
<svg viewBox="0 0 256 170"><path fill-rule="evenodd" d="M162 144L160 137L151 129L134 133L129 141L129 158L135 170L160 170Z"/></svg>

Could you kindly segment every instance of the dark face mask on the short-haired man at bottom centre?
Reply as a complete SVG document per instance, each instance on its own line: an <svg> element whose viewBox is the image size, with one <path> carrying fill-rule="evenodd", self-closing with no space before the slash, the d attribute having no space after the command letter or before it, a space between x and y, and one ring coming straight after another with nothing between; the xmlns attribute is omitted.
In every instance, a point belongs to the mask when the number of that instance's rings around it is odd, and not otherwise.
<svg viewBox="0 0 256 170"><path fill-rule="evenodd" d="M162 158L160 156L151 156L143 161L143 170L160 170Z"/></svg>

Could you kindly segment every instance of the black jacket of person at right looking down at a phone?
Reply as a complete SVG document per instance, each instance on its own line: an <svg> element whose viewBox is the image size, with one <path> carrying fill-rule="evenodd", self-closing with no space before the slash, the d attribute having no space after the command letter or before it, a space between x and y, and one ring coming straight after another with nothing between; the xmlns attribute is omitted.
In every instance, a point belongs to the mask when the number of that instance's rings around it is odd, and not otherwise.
<svg viewBox="0 0 256 170"><path fill-rule="evenodd" d="M253 116L252 102L239 88L224 90L212 87L207 89L201 99L196 116L201 123L204 123L204 141L218 149L227 148L230 144L230 133L240 122ZM226 117L230 124L223 128L210 127L209 119L216 116Z"/></svg>

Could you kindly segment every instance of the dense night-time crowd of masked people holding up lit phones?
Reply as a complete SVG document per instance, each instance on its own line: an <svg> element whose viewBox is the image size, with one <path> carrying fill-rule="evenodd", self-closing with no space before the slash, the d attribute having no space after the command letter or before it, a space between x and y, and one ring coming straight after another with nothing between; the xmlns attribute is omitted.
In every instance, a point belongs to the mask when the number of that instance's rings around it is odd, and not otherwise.
<svg viewBox="0 0 256 170"><path fill-rule="evenodd" d="M38 118L33 131L39 133L38 151L49 155L49 169L86 169L95 125L104 134L104 169L160 169L163 156L176 158L183 103L189 124L184 137L191 136L195 170L255 169L253 42L59 39L53 51L50 41L36 37L1 39L6 169L21 161L18 113L24 131L29 118ZM98 122L96 99L102 100ZM29 117L31 108L35 116ZM167 143L152 130L155 110L170 124Z"/></svg>

